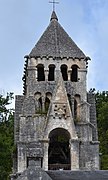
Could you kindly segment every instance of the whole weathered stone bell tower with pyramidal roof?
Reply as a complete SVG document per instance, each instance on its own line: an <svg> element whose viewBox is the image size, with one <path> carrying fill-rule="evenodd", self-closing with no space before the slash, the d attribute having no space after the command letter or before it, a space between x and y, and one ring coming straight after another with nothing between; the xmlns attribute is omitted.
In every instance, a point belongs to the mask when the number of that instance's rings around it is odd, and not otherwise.
<svg viewBox="0 0 108 180"><path fill-rule="evenodd" d="M86 88L89 58L54 11L25 59L24 93L15 105L14 173L31 164L45 171L98 170L95 99Z"/></svg>

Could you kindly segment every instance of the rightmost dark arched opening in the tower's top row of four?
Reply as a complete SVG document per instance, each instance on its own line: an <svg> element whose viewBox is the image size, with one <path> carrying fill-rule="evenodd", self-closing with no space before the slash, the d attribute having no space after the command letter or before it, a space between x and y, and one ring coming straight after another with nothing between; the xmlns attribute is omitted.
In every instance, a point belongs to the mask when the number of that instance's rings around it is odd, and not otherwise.
<svg viewBox="0 0 108 180"><path fill-rule="evenodd" d="M71 81L72 82L78 81L78 66L77 65L72 66Z"/></svg>

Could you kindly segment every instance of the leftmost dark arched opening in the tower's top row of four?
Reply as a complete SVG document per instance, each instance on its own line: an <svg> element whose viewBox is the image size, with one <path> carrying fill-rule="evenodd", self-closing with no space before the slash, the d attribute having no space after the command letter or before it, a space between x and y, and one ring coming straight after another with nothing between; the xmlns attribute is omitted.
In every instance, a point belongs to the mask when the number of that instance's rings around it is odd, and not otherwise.
<svg viewBox="0 0 108 180"><path fill-rule="evenodd" d="M44 66L42 64L37 66L37 81L45 81Z"/></svg>

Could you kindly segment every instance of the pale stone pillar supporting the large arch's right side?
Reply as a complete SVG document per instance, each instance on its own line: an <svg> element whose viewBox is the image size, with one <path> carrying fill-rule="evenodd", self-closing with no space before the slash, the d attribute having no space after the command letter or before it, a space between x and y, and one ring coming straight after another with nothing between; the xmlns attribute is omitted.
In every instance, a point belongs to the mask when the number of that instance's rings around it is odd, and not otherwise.
<svg viewBox="0 0 108 180"><path fill-rule="evenodd" d="M70 139L71 170L79 170L79 141Z"/></svg>

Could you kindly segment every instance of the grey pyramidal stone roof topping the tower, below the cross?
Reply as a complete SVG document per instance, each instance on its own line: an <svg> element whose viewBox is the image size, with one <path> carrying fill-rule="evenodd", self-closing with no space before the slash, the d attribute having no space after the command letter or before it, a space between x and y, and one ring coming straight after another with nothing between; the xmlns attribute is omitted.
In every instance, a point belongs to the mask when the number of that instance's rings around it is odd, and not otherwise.
<svg viewBox="0 0 108 180"><path fill-rule="evenodd" d="M49 26L32 49L29 56L85 58L85 54L59 24L57 15L54 11L52 12Z"/></svg>

